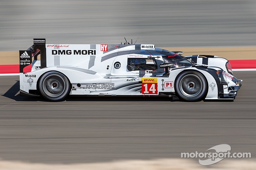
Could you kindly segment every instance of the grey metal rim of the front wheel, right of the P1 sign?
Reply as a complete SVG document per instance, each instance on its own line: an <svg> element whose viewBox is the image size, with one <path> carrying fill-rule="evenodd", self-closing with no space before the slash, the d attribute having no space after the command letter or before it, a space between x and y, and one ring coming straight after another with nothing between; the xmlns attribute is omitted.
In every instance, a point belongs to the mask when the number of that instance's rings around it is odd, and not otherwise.
<svg viewBox="0 0 256 170"><path fill-rule="evenodd" d="M188 74L180 80L179 88L183 95L192 98L202 92L203 82L198 76Z"/></svg>

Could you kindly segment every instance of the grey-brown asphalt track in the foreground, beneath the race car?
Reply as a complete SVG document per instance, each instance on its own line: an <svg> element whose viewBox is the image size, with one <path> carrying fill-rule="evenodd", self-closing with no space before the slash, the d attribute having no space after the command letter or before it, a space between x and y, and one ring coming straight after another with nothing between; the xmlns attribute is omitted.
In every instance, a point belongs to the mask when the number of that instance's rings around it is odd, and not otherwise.
<svg viewBox="0 0 256 170"><path fill-rule="evenodd" d="M255 71L234 102L170 98L69 97L48 102L19 95L18 76L0 76L0 159L86 163L180 158L229 144L256 155ZM197 159L198 161L198 159Z"/></svg>

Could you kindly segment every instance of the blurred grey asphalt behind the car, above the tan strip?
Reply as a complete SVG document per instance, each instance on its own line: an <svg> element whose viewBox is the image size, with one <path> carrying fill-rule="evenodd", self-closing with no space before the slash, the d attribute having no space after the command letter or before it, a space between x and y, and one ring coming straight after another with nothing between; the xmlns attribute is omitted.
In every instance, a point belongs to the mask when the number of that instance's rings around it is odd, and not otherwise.
<svg viewBox="0 0 256 170"><path fill-rule="evenodd" d="M255 46L255 0L1 0L0 51L51 44Z"/></svg>

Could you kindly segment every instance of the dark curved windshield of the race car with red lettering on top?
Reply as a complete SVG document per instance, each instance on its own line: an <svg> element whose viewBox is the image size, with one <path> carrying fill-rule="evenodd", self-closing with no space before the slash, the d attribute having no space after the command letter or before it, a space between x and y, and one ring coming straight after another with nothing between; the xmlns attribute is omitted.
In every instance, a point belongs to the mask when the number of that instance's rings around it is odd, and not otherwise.
<svg viewBox="0 0 256 170"><path fill-rule="evenodd" d="M153 52L153 50L150 50L150 51ZM162 56L164 63L173 63L173 66L172 66L173 68L193 65L185 57L182 57L182 56L180 56L176 53L173 53L171 51L160 49L160 48L155 48L155 53L156 52Z"/></svg>

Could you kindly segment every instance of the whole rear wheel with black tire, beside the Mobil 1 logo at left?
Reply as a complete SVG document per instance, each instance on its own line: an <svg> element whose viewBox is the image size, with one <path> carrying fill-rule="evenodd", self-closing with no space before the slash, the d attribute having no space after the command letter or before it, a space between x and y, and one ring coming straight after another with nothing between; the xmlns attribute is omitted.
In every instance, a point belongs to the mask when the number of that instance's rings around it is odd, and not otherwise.
<svg viewBox="0 0 256 170"><path fill-rule="evenodd" d="M64 100L71 88L68 78L57 71L45 73L40 78L38 87L41 95L49 101Z"/></svg>

